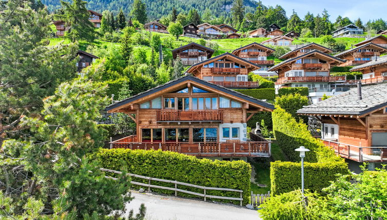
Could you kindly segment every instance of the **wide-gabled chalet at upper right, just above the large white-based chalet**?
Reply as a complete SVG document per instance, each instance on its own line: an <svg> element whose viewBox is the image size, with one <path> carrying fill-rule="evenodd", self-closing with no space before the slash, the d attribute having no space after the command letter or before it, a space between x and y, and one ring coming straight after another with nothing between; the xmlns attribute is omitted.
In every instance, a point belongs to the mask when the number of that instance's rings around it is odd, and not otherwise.
<svg viewBox="0 0 387 220"><path fill-rule="evenodd" d="M380 54L383 54L385 52L387 52L387 48L369 42L365 43L362 46L336 54L335 57L345 59L346 62L340 64L339 66L347 67L350 65L359 65L364 64L366 62L370 62L371 60L377 59L378 57L380 57Z"/></svg>

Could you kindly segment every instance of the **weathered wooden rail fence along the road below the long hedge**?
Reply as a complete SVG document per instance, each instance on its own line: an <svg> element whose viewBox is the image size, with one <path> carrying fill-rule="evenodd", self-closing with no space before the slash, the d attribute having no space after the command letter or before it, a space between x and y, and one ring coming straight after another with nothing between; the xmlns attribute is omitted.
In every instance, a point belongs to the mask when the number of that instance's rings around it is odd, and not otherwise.
<svg viewBox="0 0 387 220"><path fill-rule="evenodd" d="M122 173L120 171L111 170L111 169L105 169L105 168L100 168L100 170L105 171L105 172L118 173L118 174ZM199 186L199 185L194 185L194 184L189 184L189 183L178 182L176 180L175 181L173 181L173 180L163 180L163 179L158 179L158 178L145 177L144 175L137 175L137 174L132 174L132 173L128 173L128 175L130 175L130 177L136 177L136 178L141 178L141 179L148 180L148 183L140 183L140 182L130 181L130 183L133 184L133 185L148 187L148 192L150 192L150 188L166 189L166 190L175 191L175 196L178 195L178 192L184 192L184 193L187 193L187 194L192 194L192 195L197 195L197 196L204 197L204 201L206 201L207 198L221 199L221 200L237 200L237 201L240 201L240 205L242 206L243 190ZM109 178L109 179L117 180L117 178L108 177L108 176L105 176L105 177ZM175 188L166 187L166 186L152 185L152 184L150 184L151 181L159 181L159 182L164 182L164 183L172 183L172 184L175 184ZM203 189L203 193L198 193L198 192L192 192L192 191L188 191L188 190L184 190L184 189L179 189L178 185L183 185L183 186L189 186L189 187L193 187L193 188ZM240 193L240 197L227 197L227 196L218 196L218 195L208 195L206 193L206 190L219 190L219 191L239 192Z"/></svg>

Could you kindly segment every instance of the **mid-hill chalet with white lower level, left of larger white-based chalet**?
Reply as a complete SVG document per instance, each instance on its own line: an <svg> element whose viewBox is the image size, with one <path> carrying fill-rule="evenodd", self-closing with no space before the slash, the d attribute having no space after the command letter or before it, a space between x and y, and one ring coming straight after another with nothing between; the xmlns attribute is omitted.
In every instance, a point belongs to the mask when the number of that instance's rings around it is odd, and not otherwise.
<svg viewBox="0 0 387 220"><path fill-rule="evenodd" d="M274 60L267 60L267 56L274 52L274 49L254 42L234 50L232 54L244 60L260 65L261 68L259 70L253 71L253 73L262 77L268 77L270 73L268 73L267 69L268 67L274 65ZM276 73L273 73L273 75L274 74L277 75Z"/></svg>

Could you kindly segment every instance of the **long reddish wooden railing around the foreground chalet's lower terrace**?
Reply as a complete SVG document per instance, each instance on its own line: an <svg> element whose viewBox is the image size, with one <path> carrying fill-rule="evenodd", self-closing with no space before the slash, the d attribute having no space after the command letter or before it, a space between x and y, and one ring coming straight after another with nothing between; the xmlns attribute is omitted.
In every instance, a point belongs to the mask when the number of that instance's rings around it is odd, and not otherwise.
<svg viewBox="0 0 387 220"><path fill-rule="evenodd" d="M270 157L271 142L110 142L110 148L173 151L197 157Z"/></svg>

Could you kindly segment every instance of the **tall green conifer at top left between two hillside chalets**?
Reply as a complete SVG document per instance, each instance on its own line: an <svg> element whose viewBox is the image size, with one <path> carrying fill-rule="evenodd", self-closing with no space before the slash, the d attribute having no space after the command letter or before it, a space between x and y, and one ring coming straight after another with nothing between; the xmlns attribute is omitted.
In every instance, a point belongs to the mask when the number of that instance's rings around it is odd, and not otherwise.
<svg viewBox="0 0 387 220"><path fill-rule="evenodd" d="M57 15L58 20L66 23L67 36L72 40L94 40L94 25L89 21L90 13L86 9L86 3L82 0L73 0L73 3L61 0L63 15Z"/></svg>

